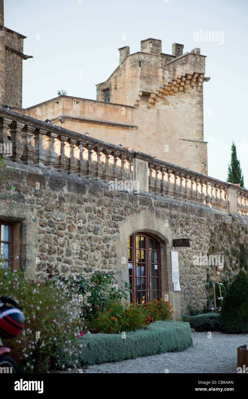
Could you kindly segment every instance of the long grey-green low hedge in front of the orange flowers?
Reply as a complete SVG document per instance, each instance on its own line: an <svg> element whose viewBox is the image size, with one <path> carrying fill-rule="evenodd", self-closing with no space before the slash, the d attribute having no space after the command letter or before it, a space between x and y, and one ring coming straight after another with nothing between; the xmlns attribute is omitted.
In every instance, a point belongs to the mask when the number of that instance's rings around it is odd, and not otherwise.
<svg viewBox="0 0 248 399"><path fill-rule="evenodd" d="M135 359L186 349L192 344L188 323L158 321L136 331L120 334L85 334L78 339L72 358L61 359L65 366L82 366L107 361Z"/></svg>

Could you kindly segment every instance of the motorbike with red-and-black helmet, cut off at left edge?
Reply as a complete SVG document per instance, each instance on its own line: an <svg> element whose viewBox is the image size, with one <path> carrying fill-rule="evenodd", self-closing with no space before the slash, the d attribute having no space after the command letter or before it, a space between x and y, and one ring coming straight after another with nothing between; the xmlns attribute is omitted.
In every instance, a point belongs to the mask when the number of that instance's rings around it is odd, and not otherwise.
<svg viewBox="0 0 248 399"><path fill-rule="evenodd" d="M0 373L19 373L16 362L8 356L10 348L2 344L1 338L15 338L24 328L22 308L6 296L0 297Z"/></svg>

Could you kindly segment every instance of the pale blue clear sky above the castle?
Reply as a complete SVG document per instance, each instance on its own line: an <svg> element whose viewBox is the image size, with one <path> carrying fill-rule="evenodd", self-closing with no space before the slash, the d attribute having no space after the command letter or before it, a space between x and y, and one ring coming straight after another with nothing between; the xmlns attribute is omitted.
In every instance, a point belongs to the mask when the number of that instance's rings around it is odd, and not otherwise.
<svg viewBox="0 0 248 399"><path fill-rule="evenodd" d="M4 18L7 28L27 36L24 53L34 57L23 61L24 108L61 89L96 99L96 83L119 64L119 47L135 53L147 38L161 39L169 54L174 42L184 52L200 47L211 77L203 83L208 174L226 181L234 140L248 188L246 0L6 0ZM194 41L200 30L219 32L219 40Z"/></svg>

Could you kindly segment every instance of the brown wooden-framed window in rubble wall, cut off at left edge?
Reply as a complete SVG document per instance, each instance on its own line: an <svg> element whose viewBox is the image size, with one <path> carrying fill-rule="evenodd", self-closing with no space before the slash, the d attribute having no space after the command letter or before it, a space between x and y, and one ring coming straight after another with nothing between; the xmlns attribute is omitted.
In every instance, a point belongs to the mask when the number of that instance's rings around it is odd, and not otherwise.
<svg viewBox="0 0 248 399"><path fill-rule="evenodd" d="M19 270L20 248L20 223L0 220L0 257L4 261L1 267Z"/></svg>

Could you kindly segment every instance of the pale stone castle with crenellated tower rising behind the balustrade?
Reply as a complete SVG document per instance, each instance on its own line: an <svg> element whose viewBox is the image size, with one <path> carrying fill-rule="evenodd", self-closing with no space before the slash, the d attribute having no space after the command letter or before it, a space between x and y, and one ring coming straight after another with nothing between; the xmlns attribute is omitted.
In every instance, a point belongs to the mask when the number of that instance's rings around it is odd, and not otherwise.
<svg viewBox="0 0 248 399"><path fill-rule="evenodd" d="M183 53L184 45L173 43L166 54L161 40L141 40L137 53L119 49L119 65L96 85L96 100L60 95L22 109L22 59L29 56L23 55L25 37L4 28L0 4L1 106L207 174L203 82L209 78L199 48Z"/></svg>

